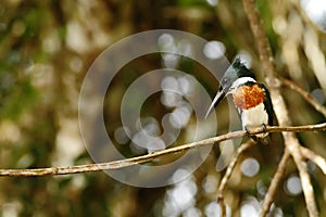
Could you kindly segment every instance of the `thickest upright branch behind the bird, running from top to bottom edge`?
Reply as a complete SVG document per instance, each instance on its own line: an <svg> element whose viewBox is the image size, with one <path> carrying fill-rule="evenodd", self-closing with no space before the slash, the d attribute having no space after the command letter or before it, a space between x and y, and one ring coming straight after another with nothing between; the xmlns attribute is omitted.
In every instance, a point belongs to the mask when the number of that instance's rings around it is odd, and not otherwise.
<svg viewBox="0 0 326 217"><path fill-rule="evenodd" d="M267 87L271 92L271 98L274 106L274 111L280 126L290 126L291 120L288 115L288 110L285 104L285 100L279 90L279 80L275 76L274 59L271 52L271 46L268 43L260 13L256 10L254 0L242 0L244 11L247 13L251 30L253 33L260 60L262 62L263 72L266 77ZM308 173L308 165L304 162L300 150L300 143L293 132L283 132L285 139L286 149L293 156L294 163L298 167L303 195L306 203L308 213L312 217L318 216L317 206L315 203L315 196Z"/></svg>

